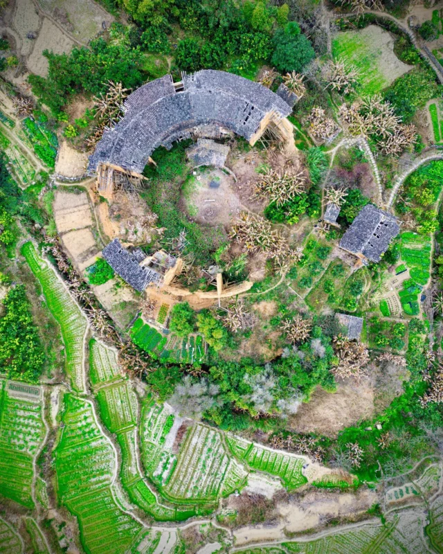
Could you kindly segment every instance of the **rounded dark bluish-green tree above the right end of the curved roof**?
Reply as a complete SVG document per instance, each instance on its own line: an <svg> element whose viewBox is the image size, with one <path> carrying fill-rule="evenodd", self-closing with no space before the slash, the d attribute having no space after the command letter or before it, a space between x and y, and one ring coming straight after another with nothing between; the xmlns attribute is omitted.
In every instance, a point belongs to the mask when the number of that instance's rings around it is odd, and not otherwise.
<svg viewBox="0 0 443 554"><path fill-rule="evenodd" d="M273 44L275 49L271 62L282 73L300 73L316 57L311 42L302 35L300 26L295 21L290 21L284 29L275 31Z"/></svg>

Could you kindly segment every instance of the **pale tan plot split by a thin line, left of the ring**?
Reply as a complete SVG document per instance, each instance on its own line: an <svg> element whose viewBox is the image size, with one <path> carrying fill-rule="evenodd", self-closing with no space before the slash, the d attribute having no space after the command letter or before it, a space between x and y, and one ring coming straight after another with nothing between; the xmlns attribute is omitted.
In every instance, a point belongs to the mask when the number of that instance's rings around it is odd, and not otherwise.
<svg viewBox="0 0 443 554"><path fill-rule="evenodd" d="M60 234L93 225L87 193L75 194L58 189L55 193L53 211L55 225Z"/></svg>

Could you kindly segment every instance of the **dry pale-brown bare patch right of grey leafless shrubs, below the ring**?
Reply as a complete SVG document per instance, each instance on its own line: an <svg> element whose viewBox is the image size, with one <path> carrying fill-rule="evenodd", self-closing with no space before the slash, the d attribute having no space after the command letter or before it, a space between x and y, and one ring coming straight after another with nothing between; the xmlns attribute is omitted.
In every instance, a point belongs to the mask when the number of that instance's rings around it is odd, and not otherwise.
<svg viewBox="0 0 443 554"><path fill-rule="evenodd" d="M311 400L303 403L288 419L289 429L298 433L318 433L336 437L344 427L374 414L374 388L370 379L338 382L335 393L316 388Z"/></svg>

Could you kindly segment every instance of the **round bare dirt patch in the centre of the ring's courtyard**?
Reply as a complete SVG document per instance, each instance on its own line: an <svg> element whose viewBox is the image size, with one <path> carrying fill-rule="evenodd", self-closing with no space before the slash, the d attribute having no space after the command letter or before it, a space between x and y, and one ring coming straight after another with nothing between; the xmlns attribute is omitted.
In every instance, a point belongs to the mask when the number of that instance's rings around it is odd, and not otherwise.
<svg viewBox="0 0 443 554"><path fill-rule="evenodd" d="M202 225L228 226L242 211L233 183L233 177L220 169L197 170L194 190L183 199L189 217Z"/></svg>

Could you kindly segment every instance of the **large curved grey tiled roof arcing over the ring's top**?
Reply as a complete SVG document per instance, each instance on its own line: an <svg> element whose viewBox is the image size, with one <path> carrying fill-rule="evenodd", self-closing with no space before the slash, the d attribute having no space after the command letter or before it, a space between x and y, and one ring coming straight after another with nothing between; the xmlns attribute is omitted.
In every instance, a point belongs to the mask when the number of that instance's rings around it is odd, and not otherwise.
<svg viewBox="0 0 443 554"><path fill-rule="evenodd" d="M171 75L143 84L125 100L125 116L106 129L89 158L88 172L113 163L141 173L159 146L170 148L199 125L216 124L250 140L265 114L280 117L291 105L257 82L213 69L183 73L177 92Z"/></svg>

